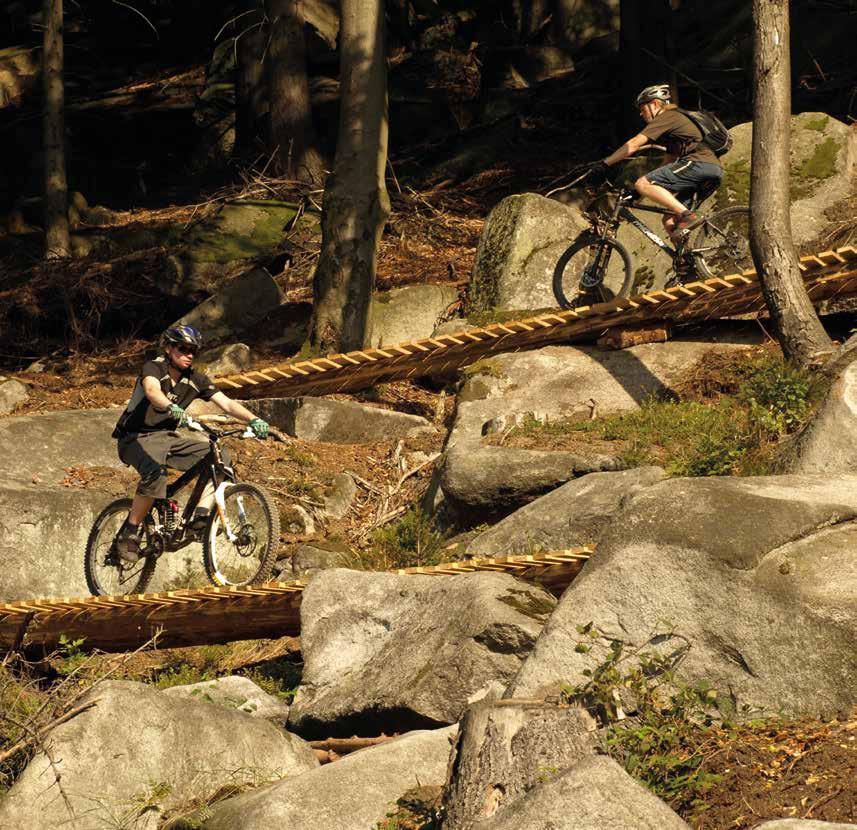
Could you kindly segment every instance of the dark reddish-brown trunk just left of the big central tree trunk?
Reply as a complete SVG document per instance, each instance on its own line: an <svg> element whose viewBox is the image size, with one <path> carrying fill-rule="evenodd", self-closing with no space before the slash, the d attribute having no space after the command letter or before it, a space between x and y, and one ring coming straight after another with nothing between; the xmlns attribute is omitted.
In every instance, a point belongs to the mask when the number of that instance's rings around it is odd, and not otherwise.
<svg viewBox="0 0 857 830"><path fill-rule="evenodd" d="M325 165L315 140L299 0L267 0L270 148L281 175L321 184Z"/></svg>

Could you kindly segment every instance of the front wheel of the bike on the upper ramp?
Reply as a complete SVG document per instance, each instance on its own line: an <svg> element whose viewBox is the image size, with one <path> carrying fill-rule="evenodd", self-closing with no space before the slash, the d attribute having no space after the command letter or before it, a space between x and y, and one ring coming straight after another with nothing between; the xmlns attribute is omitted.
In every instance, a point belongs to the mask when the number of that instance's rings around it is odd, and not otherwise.
<svg viewBox="0 0 857 830"><path fill-rule="evenodd" d="M604 285L611 263L621 269L622 285L615 296L629 297L633 287L631 256L620 242L585 235L571 245L553 272L553 294L560 307L574 308L611 299Z"/></svg>

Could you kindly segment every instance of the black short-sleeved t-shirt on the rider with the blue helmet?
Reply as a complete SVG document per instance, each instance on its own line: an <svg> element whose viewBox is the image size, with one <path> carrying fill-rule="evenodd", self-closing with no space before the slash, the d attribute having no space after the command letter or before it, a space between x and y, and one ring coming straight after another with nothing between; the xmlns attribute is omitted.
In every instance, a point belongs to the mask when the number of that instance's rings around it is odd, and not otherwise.
<svg viewBox="0 0 857 830"><path fill-rule="evenodd" d="M210 401L218 391L206 375L195 372L193 369L183 372L181 377L173 383L165 358L148 360L143 364L140 377L137 378L134 391L131 393L131 400L128 401L128 406L116 424L116 429L113 431L114 438L122 438L138 432L176 428L176 419L170 415L169 410L160 411L149 402L143 391L143 378L157 379L161 384L161 391L172 403L178 404L182 409L187 409L197 398Z"/></svg>

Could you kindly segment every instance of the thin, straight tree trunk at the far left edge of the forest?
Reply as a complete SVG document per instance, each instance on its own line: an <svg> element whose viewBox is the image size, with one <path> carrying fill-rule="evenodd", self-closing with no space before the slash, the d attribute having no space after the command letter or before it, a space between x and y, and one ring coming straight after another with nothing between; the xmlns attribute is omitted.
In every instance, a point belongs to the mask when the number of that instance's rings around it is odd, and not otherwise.
<svg viewBox="0 0 857 830"><path fill-rule="evenodd" d="M45 0L43 8L45 259L62 259L71 253L68 233L68 182L65 174L62 0Z"/></svg>

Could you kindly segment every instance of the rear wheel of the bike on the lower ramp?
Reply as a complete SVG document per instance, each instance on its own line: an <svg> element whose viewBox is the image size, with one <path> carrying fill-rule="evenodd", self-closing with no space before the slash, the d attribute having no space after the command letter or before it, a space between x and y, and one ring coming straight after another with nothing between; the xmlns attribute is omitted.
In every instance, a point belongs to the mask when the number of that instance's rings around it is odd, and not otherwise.
<svg viewBox="0 0 857 830"><path fill-rule="evenodd" d="M133 564L125 564L114 547L119 528L131 509L131 499L110 502L98 514L86 541L83 569L90 593L96 597L121 594L142 594L155 572L157 560L141 557ZM149 544L149 520L143 522L141 548Z"/></svg>

